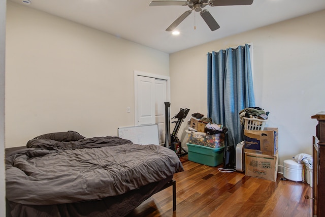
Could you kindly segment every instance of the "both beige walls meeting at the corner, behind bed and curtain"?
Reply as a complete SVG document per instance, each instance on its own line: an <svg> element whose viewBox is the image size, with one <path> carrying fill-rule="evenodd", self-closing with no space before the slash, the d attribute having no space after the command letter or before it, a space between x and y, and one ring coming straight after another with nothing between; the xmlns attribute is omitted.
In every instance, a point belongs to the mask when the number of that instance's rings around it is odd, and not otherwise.
<svg viewBox="0 0 325 217"><path fill-rule="evenodd" d="M252 43L256 106L270 111L268 127L279 128L279 164L297 153L311 154L316 121L310 116L325 109L325 29L319 26L324 19L325 11L313 13L169 58L9 2L6 147L25 145L41 133L116 135L118 127L134 125L134 70L171 76L171 116L186 107L190 114L207 114L207 52Z"/></svg>

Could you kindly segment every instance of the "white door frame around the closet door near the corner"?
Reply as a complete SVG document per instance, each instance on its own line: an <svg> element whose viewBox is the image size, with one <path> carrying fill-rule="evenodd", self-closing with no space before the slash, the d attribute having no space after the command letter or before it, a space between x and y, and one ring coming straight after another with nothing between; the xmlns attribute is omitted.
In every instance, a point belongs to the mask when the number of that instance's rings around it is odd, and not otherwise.
<svg viewBox="0 0 325 217"><path fill-rule="evenodd" d="M165 75L156 75L147 72L134 71L134 126L138 126L138 76L166 80L166 97L167 102L171 100L171 83L170 77Z"/></svg>

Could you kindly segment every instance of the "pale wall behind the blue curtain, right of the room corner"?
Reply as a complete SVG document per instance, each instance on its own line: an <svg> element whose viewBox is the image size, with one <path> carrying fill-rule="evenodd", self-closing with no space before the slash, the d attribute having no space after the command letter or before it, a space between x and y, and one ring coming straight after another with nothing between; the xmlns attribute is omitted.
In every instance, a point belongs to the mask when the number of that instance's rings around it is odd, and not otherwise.
<svg viewBox="0 0 325 217"><path fill-rule="evenodd" d="M188 107L207 115L207 52L251 42L256 106L270 111L267 127L279 129L279 165L312 154L317 121L310 117L325 110L321 20L325 10L171 54L171 114Z"/></svg>

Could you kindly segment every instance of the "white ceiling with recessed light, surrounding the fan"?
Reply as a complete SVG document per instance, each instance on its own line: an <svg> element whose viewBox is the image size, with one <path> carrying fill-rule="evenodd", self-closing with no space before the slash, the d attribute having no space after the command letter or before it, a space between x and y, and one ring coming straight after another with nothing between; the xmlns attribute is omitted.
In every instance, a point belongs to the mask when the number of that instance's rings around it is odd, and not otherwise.
<svg viewBox="0 0 325 217"><path fill-rule="evenodd" d="M22 0L10 1L25 5ZM174 36L165 29L182 13L190 10L187 6L149 7L151 0L30 1L31 4L25 5L26 7L99 29L166 53L174 53L325 9L324 0L254 0L250 6L206 6L204 9L207 9L215 18L220 25L219 29L212 32L200 14L193 11L177 26L180 35Z"/></svg>

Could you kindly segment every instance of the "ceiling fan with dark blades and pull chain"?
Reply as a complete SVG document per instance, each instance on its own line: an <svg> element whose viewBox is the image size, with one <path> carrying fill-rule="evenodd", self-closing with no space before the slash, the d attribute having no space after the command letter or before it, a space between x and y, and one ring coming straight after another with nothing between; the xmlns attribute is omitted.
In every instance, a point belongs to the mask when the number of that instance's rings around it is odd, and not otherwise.
<svg viewBox="0 0 325 217"><path fill-rule="evenodd" d="M172 1L172 0L161 0L152 1L149 6L188 6L191 10L185 11L179 16L167 29L166 31L173 31L192 11L200 12L201 17L208 24L211 31L220 28L219 24L210 12L203 9L207 5L209 6L232 6L232 5L251 5L253 0L187 0L187 1Z"/></svg>

